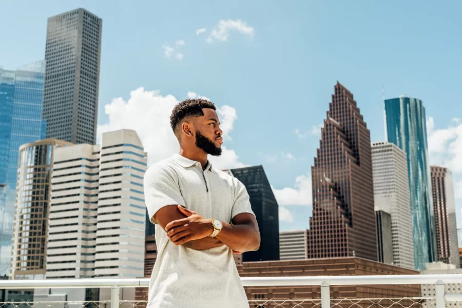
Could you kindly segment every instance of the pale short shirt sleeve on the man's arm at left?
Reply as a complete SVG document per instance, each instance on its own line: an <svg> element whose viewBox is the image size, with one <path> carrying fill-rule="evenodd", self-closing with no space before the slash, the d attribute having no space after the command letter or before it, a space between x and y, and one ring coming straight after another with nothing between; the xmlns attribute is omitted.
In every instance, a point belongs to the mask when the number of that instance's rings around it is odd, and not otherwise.
<svg viewBox="0 0 462 308"><path fill-rule="evenodd" d="M185 202L180 192L178 176L167 166L152 165L144 175L144 200L152 223L157 224L154 215L167 205L182 205Z"/></svg>

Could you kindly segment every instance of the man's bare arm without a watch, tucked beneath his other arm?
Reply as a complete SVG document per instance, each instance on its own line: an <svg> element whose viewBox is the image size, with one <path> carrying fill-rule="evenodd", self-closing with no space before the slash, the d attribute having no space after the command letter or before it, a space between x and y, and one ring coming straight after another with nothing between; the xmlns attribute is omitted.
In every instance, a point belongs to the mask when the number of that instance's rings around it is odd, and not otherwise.
<svg viewBox="0 0 462 308"><path fill-rule="evenodd" d="M183 208L181 205L167 205L160 208L156 214L154 214L154 219L159 223L162 229L165 230L167 224L172 221L180 220L186 218L186 215L181 213L179 208ZM211 225L211 224L210 224ZM209 248L215 248L222 246L223 243L220 242L217 238L205 237L202 239L191 240L185 243L183 246L195 250L204 250Z"/></svg>

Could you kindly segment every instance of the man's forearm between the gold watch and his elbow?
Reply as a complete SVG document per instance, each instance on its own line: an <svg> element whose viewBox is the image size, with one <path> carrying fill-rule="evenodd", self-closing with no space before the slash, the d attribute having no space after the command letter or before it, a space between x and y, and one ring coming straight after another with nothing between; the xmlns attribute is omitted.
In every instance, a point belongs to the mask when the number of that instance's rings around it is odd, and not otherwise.
<svg viewBox="0 0 462 308"><path fill-rule="evenodd" d="M216 236L223 244L236 252L253 252L260 248L260 233L253 224L223 223L223 228Z"/></svg>

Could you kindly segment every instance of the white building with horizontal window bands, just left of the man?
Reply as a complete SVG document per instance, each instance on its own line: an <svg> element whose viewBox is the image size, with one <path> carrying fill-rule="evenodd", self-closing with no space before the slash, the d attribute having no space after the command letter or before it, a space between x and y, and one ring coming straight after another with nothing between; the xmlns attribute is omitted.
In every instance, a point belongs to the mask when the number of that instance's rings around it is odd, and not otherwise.
<svg viewBox="0 0 462 308"><path fill-rule="evenodd" d="M133 130L56 150L47 279L143 277L146 162Z"/></svg>

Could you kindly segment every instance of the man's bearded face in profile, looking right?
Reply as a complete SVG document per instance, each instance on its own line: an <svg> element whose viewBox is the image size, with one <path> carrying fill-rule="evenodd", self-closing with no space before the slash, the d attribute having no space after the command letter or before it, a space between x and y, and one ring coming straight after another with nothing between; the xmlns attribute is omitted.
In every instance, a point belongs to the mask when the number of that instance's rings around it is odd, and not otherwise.
<svg viewBox="0 0 462 308"><path fill-rule="evenodd" d="M203 108L202 111L204 115L196 119L196 146L207 154L220 156L223 131L217 112L210 108Z"/></svg>

